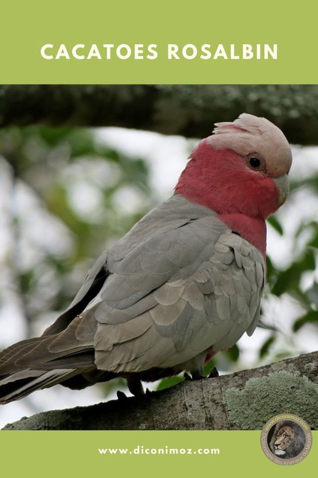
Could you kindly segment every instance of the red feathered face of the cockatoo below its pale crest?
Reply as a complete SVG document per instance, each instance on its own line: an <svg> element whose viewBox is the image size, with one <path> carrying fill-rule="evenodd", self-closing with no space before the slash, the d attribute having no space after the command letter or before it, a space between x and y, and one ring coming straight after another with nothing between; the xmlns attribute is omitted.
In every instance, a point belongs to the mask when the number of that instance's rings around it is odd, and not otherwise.
<svg viewBox="0 0 318 478"><path fill-rule="evenodd" d="M219 214L240 213L266 219L286 200L290 163L278 169L257 151L242 156L214 149L203 140L192 152L176 193Z"/></svg>

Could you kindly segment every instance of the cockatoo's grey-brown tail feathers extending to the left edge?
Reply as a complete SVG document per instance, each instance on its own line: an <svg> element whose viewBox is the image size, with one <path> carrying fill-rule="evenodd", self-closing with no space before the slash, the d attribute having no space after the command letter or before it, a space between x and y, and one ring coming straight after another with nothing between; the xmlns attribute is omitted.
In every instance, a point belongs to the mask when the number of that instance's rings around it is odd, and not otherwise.
<svg viewBox="0 0 318 478"><path fill-rule="evenodd" d="M0 352L0 404L19 400L35 390L63 383L84 388L91 382L81 374L95 373L94 308L63 331L17 342ZM93 375L94 375L93 373ZM78 375L78 378L75 378Z"/></svg>

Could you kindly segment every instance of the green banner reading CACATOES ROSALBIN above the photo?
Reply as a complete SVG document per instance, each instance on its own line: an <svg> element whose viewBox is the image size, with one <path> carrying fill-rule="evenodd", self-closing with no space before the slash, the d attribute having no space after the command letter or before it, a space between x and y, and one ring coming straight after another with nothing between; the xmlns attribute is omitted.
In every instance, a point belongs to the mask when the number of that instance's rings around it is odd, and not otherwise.
<svg viewBox="0 0 318 478"><path fill-rule="evenodd" d="M317 83L318 5L1 5L1 83Z"/></svg>

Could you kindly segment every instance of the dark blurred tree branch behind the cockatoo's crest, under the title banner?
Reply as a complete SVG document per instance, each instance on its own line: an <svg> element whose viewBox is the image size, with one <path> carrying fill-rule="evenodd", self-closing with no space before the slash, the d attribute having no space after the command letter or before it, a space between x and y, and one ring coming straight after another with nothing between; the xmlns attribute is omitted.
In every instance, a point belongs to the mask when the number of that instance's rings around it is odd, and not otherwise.
<svg viewBox="0 0 318 478"><path fill-rule="evenodd" d="M122 126L202 138L242 112L318 144L318 85L2 85L0 126Z"/></svg>

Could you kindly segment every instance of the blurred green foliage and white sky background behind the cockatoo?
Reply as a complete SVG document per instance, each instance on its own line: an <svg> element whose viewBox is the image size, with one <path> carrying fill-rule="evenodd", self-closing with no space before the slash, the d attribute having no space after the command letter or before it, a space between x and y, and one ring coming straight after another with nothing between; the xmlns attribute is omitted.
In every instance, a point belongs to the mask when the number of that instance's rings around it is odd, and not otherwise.
<svg viewBox="0 0 318 478"><path fill-rule="evenodd" d="M117 133L125 138L125 130L112 130L115 138ZM68 306L95 258L169 195L166 189L160 195L160 185L153 187L147 155L125 153L117 147L122 140L107 141L103 131L43 126L0 131L0 348L42 333ZM143 132L130 131L129 141L132 134L136 144L143 141ZM148 134L160 145L159 134ZM185 165L194 140L174 138L183 142ZM162 154L164 171L164 160L173 158ZM317 344L318 149L296 147L294 155L298 169L291 173L288 206L268 221L268 287L256 338L243 338L219 354L206 372L213 366L221 372L252 368ZM288 254L280 261L284 250ZM98 387L92 397L106 398L124 390L125 382Z"/></svg>

